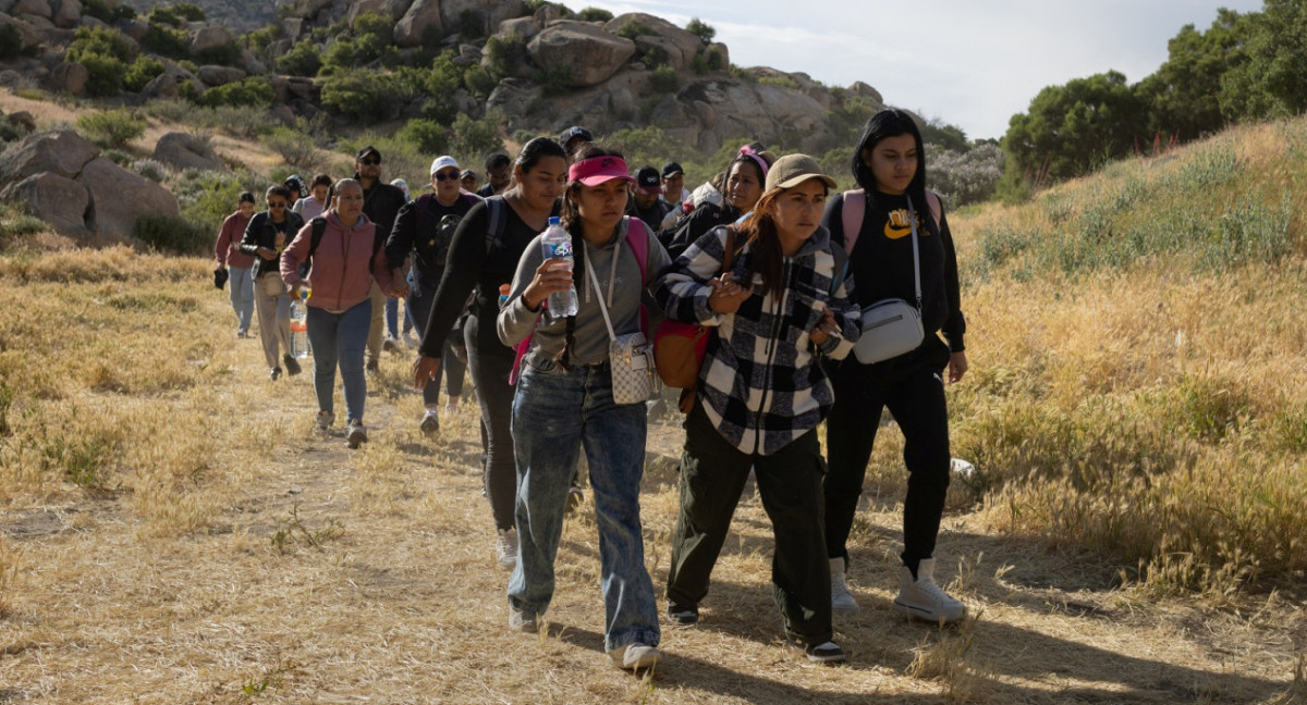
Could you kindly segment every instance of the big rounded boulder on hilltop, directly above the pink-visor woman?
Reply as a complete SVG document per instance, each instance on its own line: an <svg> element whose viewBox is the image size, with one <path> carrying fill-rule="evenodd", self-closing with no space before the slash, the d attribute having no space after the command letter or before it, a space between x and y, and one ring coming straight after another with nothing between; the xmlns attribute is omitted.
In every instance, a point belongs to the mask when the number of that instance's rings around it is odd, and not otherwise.
<svg viewBox="0 0 1307 705"><path fill-rule="evenodd" d="M563 70L572 87L609 80L635 54L635 42L604 27L563 20L545 27L527 44L531 61L546 70Z"/></svg>

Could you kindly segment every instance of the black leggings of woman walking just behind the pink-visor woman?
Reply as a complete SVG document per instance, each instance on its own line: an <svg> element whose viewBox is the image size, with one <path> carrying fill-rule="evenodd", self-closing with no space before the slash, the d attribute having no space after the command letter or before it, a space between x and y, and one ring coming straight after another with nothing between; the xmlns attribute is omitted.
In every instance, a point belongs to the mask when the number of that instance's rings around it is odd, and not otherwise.
<svg viewBox="0 0 1307 705"><path fill-rule="evenodd" d="M494 325L491 319L490 325ZM514 350L498 339L480 341L480 324L469 316L463 326L468 343L468 372L477 388L481 405L482 490L490 500L495 529L514 527L514 503L518 499L518 466L512 450L512 394L508 372Z"/></svg>

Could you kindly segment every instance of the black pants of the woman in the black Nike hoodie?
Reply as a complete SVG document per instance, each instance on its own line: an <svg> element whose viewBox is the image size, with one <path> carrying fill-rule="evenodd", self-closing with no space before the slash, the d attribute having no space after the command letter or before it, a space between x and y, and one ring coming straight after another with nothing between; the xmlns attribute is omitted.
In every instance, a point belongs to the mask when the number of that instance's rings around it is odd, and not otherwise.
<svg viewBox="0 0 1307 705"><path fill-rule="evenodd" d="M928 366L893 381L847 360L833 375L835 406L826 419L826 552L848 563L848 531L863 494L881 411L889 407L903 432L907 496L903 500L903 564L916 571L935 555L949 491L949 411L944 381Z"/></svg>

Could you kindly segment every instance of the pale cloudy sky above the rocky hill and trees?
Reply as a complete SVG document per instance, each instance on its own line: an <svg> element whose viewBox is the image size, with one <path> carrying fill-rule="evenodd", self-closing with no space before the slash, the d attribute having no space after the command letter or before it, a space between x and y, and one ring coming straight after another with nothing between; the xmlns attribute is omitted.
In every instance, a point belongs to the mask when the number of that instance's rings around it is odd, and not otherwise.
<svg viewBox="0 0 1307 705"><path fill-rule="evenodd" d="M1002 137L1046 86L1107 70L1137 82L1166 61L1167 40L1217 8L1261 0L570 0L712 25L731 63L804 72L829 86L863 81L885 102L940 118L967 137Z"/></svg>

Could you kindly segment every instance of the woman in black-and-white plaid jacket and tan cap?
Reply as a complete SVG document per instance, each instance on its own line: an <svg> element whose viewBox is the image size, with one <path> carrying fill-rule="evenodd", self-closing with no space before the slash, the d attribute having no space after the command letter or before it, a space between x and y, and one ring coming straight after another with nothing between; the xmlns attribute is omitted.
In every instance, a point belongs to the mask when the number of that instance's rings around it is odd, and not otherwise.
<svg viewBox="0 0 1307 705"><path fill-rule="evenodd" d="M685 420L668 619L698 623L753 467L775 535L771 582L786 636L814 662L844 661L831 641L817 440L834 392L818 360L843 358L859 336L848 282L821 227L834 187L810 157L782 157L753 215L699 238L656 291L668 317L716 332Z"/></svg>

